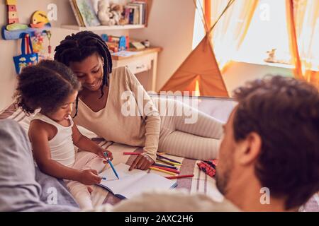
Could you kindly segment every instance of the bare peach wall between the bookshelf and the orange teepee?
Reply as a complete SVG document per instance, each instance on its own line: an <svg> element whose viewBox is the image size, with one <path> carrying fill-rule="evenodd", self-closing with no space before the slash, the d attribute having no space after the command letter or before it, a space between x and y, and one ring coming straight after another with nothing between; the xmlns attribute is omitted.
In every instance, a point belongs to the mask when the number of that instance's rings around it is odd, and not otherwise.
<svg viewBox="0 0 319 226"><path fill-rule="evenodd" d="M130 37L150 40L162 47L157 69L157 90L173 75L191 52L194 31L193 0L153 0L148 27L130 30Z"/></svg>

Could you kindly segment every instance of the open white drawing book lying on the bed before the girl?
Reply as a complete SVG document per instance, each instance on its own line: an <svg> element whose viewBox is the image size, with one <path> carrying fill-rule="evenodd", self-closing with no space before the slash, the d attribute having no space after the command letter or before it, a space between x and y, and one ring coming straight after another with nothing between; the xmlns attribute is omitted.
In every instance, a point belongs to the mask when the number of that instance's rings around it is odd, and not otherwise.
<svg viewBox="0 0 319 226"><path fill-rule="evenodd" d="M99 174L105 177L99 186L111 191L118 198L132 198L145 191L153 189L169 190L177 186L177 182L160 176L159 174L147 173L140 169L128 171L129 165L120 163L115 166L118 172L118 178L113 173L113 170L106 169L106 171Z"/></svg>

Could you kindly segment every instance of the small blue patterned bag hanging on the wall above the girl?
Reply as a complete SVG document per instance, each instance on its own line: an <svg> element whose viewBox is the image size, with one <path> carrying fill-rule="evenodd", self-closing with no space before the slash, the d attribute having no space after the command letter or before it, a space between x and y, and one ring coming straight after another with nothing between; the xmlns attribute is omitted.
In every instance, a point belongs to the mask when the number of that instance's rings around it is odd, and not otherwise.
<svg viewBox="0 0 319 226"><path fill-rule="evenodd" d="M22 69L26 66L37 64L38 60L38 54L33 52L30 35L23 34L21 55L13 57L16 73L21 73Z"/></svg>

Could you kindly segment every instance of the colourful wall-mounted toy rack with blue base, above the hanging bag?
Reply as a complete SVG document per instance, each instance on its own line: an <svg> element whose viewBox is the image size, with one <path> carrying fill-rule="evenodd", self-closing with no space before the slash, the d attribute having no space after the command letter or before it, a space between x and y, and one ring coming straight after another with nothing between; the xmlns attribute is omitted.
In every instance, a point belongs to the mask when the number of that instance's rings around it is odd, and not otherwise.
<svg viewBox="0 0 319 226"><path fill-rule="evenodd" d="M33 13L29 27L26 24L19 23L16 0L6 0L6 6L8 9L8 25L4 25L1 29L4 40L18 40L23 38L24 34L34 37L36 32L43 32L43 30L51 28L50 21L43 11Z"/></svg>

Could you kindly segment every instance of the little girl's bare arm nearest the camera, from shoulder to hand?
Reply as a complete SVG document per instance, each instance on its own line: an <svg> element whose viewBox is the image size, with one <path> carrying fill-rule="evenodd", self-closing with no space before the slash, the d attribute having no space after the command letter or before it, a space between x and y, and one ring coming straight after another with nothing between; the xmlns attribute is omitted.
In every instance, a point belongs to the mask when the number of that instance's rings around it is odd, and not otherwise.
<svg viewBox="0 0 319 226"><path fill-rule="evenodd" d="M97 176L97 172L80 171L65 167L65 165L51 159L50 147L48 143L48 133L40 126L41 122L33 121L30 124L29 136L33 147L33 156L39 169L45 174L58 179L69 179L79 181L83 184L92 185L101 182L101 178Z"/></svg>

